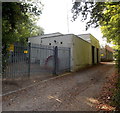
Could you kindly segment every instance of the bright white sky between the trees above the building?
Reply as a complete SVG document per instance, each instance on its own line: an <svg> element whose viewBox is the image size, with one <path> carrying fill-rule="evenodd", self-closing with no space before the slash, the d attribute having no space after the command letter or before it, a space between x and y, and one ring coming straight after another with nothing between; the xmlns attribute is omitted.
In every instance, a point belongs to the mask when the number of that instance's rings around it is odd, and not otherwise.
<svg viewBox="0 0 120 113"><path fill-rule="evenodd" d="M45 34L55 32L75 35L91 33L99 40L100 45L107 44L102 38L99 28L90 28L85 31L85 22L81 22L80 17L74 22L71 21L72 0L41 0L41 2L44 7L37 24L44 29Z"/></svg>

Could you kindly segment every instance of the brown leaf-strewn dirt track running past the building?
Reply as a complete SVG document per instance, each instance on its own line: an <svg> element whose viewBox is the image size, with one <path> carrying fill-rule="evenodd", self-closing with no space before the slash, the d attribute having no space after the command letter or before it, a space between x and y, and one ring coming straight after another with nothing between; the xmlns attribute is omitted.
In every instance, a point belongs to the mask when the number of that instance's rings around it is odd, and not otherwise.
<svg viewBox="0 0 120 113"><path fill-rule="evenodd" d="M96 65L3 96L3 111L96 111L112 63Z"/></svg>

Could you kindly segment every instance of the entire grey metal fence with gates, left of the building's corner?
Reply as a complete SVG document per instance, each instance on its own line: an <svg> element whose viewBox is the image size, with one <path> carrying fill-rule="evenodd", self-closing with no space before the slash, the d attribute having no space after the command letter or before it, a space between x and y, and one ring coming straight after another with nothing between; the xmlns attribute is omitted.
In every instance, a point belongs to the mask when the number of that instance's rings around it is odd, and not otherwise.
<svg viewBox="0 0 120 113"><path fill-rule="evenodd" d="M61 74L70 71L70 48L39 44L14 45L3 78Z"/></svg>

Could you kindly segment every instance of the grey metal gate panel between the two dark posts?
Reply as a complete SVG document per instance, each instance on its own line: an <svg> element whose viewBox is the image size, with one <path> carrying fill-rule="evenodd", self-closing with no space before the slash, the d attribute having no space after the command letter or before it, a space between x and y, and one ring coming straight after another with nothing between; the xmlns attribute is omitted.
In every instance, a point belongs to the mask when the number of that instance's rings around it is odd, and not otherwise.
<svg viewBox="0 0 120 113"><path fill-rule="evenodd" d="M46 45L30 45L30 75L41 73L52 74L54 70L54 47Z"/></svg>

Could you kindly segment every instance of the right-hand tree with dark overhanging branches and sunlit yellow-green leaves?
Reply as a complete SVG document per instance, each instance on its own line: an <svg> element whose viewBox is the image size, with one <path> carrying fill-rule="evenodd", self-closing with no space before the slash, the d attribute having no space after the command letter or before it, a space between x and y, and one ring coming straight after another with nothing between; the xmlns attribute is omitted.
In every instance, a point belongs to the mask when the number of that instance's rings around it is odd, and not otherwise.
<svg viewBox="0 0 120 113"><path fill-rule="evenodd" d="M108 42L118 46L118 71L120 72L120 2L74 2L73 20L81 14L82 21L88 20L89 27L100 26Z"/></svg>

